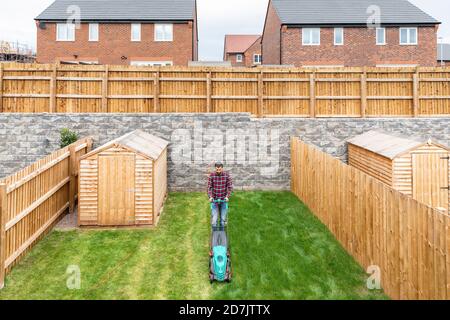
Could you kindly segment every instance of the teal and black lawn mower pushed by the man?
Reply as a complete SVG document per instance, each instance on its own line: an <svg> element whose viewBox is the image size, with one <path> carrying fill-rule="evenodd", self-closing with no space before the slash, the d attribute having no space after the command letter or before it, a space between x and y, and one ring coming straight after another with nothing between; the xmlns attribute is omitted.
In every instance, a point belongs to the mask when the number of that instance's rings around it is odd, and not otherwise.
<svg viewBox="0 0 450 320"><path fill-rule="evenodd" d="M224 203L228 210L228 202L224 200L211 202L211 210L220 203ZM209 280L211 283L214 281L231 282L231 255L227 227L222 225L220 217L217 219L217 224L212 226L211 248L209 251Z"/></svg>

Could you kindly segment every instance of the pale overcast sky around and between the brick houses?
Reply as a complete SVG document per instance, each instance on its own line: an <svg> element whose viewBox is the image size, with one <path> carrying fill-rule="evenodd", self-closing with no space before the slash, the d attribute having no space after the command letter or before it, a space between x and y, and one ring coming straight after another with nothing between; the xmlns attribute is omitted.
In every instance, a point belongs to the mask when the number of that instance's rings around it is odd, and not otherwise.
<svg viewBox="0 0 450 320"><path fill-rule="evenodd" d="M36 46L33 18L54 0L1 0L0 40ZM396 0L393 0L396 1ZM221 60L225 34L262 33L268 0L197 0L200 59ZM411 0L442 22L439 36L450 42L450 1Z"/></svg>

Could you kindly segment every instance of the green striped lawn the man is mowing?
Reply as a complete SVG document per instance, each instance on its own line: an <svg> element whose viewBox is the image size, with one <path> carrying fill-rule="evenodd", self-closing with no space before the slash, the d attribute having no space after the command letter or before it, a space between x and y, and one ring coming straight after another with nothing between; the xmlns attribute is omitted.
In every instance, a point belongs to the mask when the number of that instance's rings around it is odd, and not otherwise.
<svg viewBox="0 0 450 320"><path fill-rule="evenodd" d="M54 231L7 276L0 299L384 299L319 220L288 192L230 203L234 279L208 279L209 205L170 195L153 230ZM66 286L69 265L81 289Z"/></svg>

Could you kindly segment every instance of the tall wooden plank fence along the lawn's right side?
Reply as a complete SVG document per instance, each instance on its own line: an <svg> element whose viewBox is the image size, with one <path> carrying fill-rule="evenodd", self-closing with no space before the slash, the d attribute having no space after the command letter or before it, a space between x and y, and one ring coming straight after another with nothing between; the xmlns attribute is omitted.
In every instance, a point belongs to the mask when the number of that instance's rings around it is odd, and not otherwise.
<svg viewBox="0 0 450 320"><path fill-rule="evenodd" d="M292 139L292 190L394 299L450 299L450 216Z"/></svg>

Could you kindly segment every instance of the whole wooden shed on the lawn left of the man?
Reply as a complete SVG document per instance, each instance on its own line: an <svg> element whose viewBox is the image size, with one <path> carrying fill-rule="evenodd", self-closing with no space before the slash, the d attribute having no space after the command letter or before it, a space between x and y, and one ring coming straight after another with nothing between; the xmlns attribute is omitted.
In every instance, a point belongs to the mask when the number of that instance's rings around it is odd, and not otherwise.
<svg viewBox="0 0 450 320"><path fill-rule="evenodd" d="M137 130L80 159L80 226L152 226L167 195L168 142Z"/></svg>

